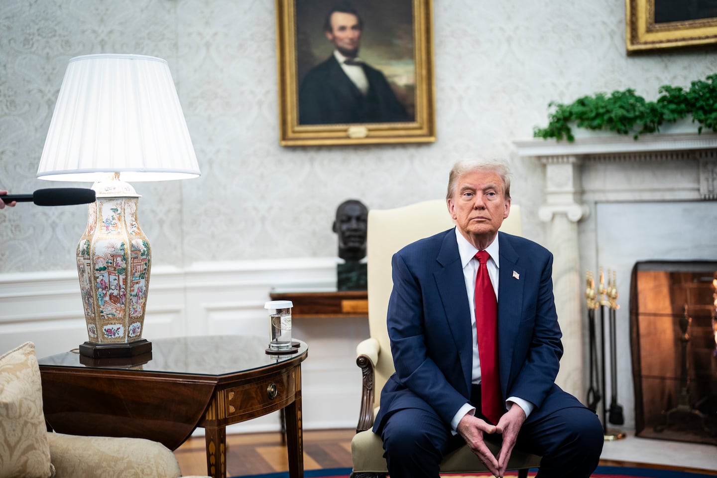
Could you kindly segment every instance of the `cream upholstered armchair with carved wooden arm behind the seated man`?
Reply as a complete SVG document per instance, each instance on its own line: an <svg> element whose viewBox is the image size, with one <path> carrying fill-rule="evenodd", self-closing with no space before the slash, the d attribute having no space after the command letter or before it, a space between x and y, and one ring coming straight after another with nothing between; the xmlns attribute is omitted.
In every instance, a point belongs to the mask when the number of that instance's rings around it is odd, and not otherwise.
<svg viewBox="0 0 717 478"><path fill-rule="evenodd" d="M366 257L368 259L369 333L371 337L356 347L356 363L363 374L361 411L356 435L351 440L353 478L385 477L388 472L381 437L371 431L379 408L381 388L394 372L391 344L386 329L386 309L393 283L391 281L391 256L404 245L452 228L452 221L445 200L419 202L391 210L370 210ZM521 234L521 211L511 205L511 213L503 221L500 230L514 235ZM488 444L497 452L497 446ZM540 456L513 450L508 469L520 470L518 476L526 477L529 468L538 467ZM441 464L442 473L486 472L467 445L447 455Z"/></svg>

